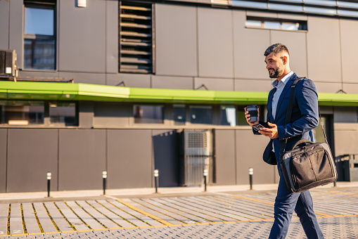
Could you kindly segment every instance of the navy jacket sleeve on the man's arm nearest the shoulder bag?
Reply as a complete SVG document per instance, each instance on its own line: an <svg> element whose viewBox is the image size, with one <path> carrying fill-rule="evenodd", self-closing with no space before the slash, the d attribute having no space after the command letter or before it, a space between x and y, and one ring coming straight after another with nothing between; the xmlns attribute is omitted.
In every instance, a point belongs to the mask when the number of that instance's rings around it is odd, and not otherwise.
<svg viewBox="0 0 358 239"><path fill-rule="evenodd" d="M297 101L300 117L293 123L277 127L280 140L298 136L318 126L318 94L312 80L302 79L298 82L294 100Z"/></svg>

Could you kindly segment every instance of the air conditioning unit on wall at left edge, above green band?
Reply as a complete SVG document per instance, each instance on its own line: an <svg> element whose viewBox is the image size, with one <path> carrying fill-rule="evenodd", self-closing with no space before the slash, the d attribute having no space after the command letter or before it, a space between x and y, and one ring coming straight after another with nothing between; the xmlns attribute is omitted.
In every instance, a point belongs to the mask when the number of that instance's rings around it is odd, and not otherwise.
<svg viewBox="0 0 358 239"><path fill-rule="evenodd" d="M15 50L0 50L0 77L17 77Z"/></svg>

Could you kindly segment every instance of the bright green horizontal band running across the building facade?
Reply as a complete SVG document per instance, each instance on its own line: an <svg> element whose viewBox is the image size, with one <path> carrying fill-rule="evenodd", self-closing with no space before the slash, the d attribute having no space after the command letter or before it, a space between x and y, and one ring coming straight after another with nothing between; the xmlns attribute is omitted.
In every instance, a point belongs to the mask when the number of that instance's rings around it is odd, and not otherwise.
<svg viewBox="0 0 358 239"><path fill-rule="evenodd" d="M0 99L139 103L257 104L268 92L150 89L58 82L0 82ZM358 94L319 93L320 105L358 106Z"/></svg>

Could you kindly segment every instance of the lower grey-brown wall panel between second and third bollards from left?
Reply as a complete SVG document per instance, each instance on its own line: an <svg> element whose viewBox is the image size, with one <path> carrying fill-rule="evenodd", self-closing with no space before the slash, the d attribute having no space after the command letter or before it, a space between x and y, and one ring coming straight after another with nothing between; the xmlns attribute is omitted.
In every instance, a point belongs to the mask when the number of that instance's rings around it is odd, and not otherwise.
<svg viewBox="0 0 358 239"><path fill-rule="evenodd" d="M149 129L108 129L108 188L148 188L153 181Z"/></svg>

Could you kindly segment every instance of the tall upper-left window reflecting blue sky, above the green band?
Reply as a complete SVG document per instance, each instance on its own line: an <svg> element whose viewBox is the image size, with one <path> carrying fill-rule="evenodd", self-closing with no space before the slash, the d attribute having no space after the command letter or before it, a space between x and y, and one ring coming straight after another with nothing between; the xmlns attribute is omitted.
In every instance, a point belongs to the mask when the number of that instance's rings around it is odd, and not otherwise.
<svg viewBox="0 0 358 239"><path fill-rule="evenodd" d="M24 69L56 70L56 1L24 1Z"/></svg>

